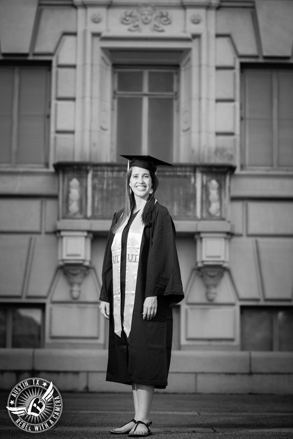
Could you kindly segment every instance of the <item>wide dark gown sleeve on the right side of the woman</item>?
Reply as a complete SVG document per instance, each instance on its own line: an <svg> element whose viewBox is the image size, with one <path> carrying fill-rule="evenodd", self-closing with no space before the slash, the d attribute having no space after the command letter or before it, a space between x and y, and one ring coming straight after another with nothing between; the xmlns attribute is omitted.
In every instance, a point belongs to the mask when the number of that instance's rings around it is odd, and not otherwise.
<svg viewBox="0 0 293 439"><path fill-rule="evenodd" d="M169 304L176 304L184 298L175 226L163 206L154 221L148 254L145 297L149 296L164 296Z"/></svg>

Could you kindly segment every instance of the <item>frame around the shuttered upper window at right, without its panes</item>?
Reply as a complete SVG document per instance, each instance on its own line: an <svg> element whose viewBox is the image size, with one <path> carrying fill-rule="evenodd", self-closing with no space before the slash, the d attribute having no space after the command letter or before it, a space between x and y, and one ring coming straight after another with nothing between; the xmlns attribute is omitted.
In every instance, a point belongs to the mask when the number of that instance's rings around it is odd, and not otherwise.
<svg viewBox="0 0 293 439"><path fill-rule="evenodd" d="M245 71L246 70L271 70L272 71L272 166L268 165L249 165L248 163L248 140L247 140L247 125L246 125L246 80ZM292 70L292 64L282 64L282 63L253 63L246 62L240 65L240 168L242 171L292 171L292 166L280 166L278 164L279 160L279 147L278 147L278 81L277 73L280 70Z"/></svg>

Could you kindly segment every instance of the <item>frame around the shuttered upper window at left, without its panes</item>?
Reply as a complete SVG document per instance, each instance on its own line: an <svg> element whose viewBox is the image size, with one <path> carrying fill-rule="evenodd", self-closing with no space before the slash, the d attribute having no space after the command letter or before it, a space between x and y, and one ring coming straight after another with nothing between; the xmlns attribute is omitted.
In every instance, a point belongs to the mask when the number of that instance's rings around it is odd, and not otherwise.
<svg viewBox="0 0 293 439"><path fill-rule="evenodd" d="M1 169L45 169L49 166L50 153L50 120L51 120L51 80L52 63L51 61L26 61L26 60L0 60L0 68L13 68L13 104L12 104L12 136L10 145L10 162L0 163ZM40 145L43 148L43 163L17 163L18 154L18 127L19 127L19 108L20 108L20 69L43 69L45 70L45 118L44 118L44 138Z"/></svg>

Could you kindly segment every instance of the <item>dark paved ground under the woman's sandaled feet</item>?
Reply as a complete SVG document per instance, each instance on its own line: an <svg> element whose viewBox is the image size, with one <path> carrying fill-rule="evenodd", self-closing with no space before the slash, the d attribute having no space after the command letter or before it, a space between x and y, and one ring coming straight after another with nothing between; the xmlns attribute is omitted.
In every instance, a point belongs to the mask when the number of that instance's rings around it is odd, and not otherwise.
<svg viewBox="0 0 293 439"><path fill-rule="evenodd" d="M28 438L8 416L9 393L0 393L0 438ZM61 419L41 438L114 439L109 428L133 418L129 393L62 393L62 399ZM293 396L155 394L151 420L154 439L293 439Z"/></svg>

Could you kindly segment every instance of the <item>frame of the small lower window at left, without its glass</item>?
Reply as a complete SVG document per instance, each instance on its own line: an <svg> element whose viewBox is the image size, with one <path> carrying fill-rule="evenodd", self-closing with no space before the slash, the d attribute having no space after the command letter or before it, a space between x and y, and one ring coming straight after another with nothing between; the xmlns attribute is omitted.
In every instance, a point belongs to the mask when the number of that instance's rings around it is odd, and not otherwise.
<svg viewBox="0 0 293 439"><path fill-rule="evenodd" d="M17 349L12 346L13 339L13 322L12 313L16 309L38 309L41 311L41 334L40 334L40 346L35 348L21 347L21 349L42 349L44 347L45 340L45 304L43 303L1 303L1 309L6 311L6 341L3 349Z"/></svg>

